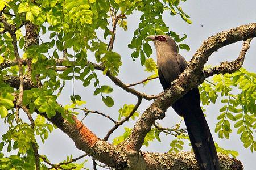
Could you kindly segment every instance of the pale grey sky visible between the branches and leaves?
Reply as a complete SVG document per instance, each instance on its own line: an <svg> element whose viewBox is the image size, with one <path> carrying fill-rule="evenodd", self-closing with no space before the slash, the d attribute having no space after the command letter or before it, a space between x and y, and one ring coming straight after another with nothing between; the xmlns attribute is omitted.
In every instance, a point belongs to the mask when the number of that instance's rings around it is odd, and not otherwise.
<svg viewBox="0 0 256 170"><path fill-rule="evenodd" d="M185 39L182 43L188 44L191 48L189 52L186 50L180 50L180 54L189 61L193 54L196 52L201 45L201 43L207 39L209 36L212 36L220 31L225 31L233 27L237 27L242 24L248 24L255 22L256 19L256 1L247 0L247 1L238 1L238 0L222 0L222 1L187 1L181 2L180 6L183 8L183 11L186 12L189 16L191 16L192 24L185 23L180 16L170 16L169 12L165 12L163 15L164 22L166 25L170 27L171 31L175 31L180 35L184 33L187 34L187 39ZM134 83L139 82L150 74L144 73L144 68L141 67L141 63L139 59L135 62L132 61L130 54L133 50L127 47L127 44L131 41L133 37L133 32L137 28L139 23L140 12L134 12L132 16L127 18L128 30L123 31L121 28L117 28L117 36L114 42L114 51L121 54L123 65L121 66L120 73L118 74L118 78L121 79L124 83ZM97 32L98 36L102 36L102 32ZM47 38L44 38L47 41ZM102 40L104 40L102 38ZM105 42L108 42L105 40ZM150 43L154 53L152 57L156 59L155 49L152 42ZM242 42L237 42L236 44L232 44L229 46L225 46L218 50L218 52L214 52L212 56L210 56L207 64L208 65L218 65L218 63L222 61L233 61L238 56L242 47ZM245 58L245 62L243 67L245 67L248 71L255 72L256 71L256 39L251 41L250 49L248 50ZM94 56L89 56L88 60L94 61ZM118 118L118 109L123 106L123 104L135 104L137 102L137 97L134 95L127 94L121 88L116 87L113 82L111 82L108 78L102 76L102 72L97 72L100 77L100 84L107 84L114 88L114 92L110 94L113 97L115 104L112 108L106 108L104 103L101 101L101 96L93 96L94 87L93 85L84 88L81 82L75 82L75 94L79 94L82 97L82 100L85 100L86 108L90 110L97 110L99 112L103 112L108 114L109 116ZM63 94L59 99L59 102L63 105L69 103L69 95L72 94L71 83L67 83L66 87L63 90ZM146 92L150 95L159 94L162 92L162 86L158 79L153 80L148 83L146 87L141 85L135 87L135 89ZM221 99L221 98L220 98ZM143 100L141 107L138 108L138 111L143 113L144 109L151 104L152 101ZM230 139L220 139L218 138L218 134L214 133L214 127L216 125L217 116L219 114L220 103L211 104L209 107L205 107L207 111L207 122L209 128L212 132L214 141L218 143L218 145L222 148L228 150L236 150L239 152L239 156L237 159L241 160L246 170L253 170L256 168L255 160L256 153L251 153L250 149L246 149L243 147L243 143L240 141L240 136L236 134L237 129L233 129L233 133L230 135ZM83 114L81 113L79 118L82 118ZM179 122L181 118L177 116L177 114L169 108L166 112L166 117L164 120L159 120L163 127L170 127ZM123 127L132 128L135 121L130 120L126 122L123 126L119 127L109 138L109 142L112 142L114 137L121 135L123 133ZM1 122L2 124L2 122ZM90 130L93 131L98 137L103 138L108 130L114 126L113 122L107 120L104 117L94 116L93 114L89 114L88 117L84 120L85 126L87 126ZM182 124L185 128L185 125ZM0 130L1 134L3 133ZM254 131L254 133L256 133ZM254 135L255 137L255 135ZM161 135L160 138L162 142L158 141L150 142L148 147L143 146L143 151L150 152L167 152L170 149L170 142L174 137ZM73 158L84 154L82 151L78 150L73 141L62 131L59 129L54 130L51 134L49 134L48 139L44 144L38 138L38 142L40 145L39 154L47 155L48 159L52 163L58 163L61 160L66 159L67 155L73 155ZM189 146L184 147L185 151L191 150ZM92 169L91 158L88 159L88 163L85 163L85 167ZM98 167L97 169L101 169Z"/></svg>

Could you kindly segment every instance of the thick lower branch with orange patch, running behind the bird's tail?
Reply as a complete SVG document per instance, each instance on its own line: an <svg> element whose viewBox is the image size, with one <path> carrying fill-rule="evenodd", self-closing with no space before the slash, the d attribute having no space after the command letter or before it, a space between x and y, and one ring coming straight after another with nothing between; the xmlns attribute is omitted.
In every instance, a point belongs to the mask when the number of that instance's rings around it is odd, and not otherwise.
<svg viewBox="0 0 256 170"><path fill-rule="evenodd" d="M16 103L16 98L14 103ZM191 169L191 167L194 168L197 166L195 156L192 152L159 154L125 150L122 145L114 146L96 137L96 135L86 128L81 121L77 120L75 116L72 117L75 123L70 123L67 120L64 120L60 113L56 113L55 116L48 118L46 113L40 113L38 110L35 112L46 117L60 130L66 133L75 142L77 148L109 167L116 169L138 169L139 167L139 169L143 170L168 169L167 167L179 169L181 166ZM52 167L60 165L51 164L44 156L38 156ZM83 156L80 156L77 159L80 159ZM73 162L74 160L71 161ZM220 156L220 162L221 166L225 167L224 169L232 169L229 167L235 166L237 169L242 169L242 163L239 160L228 158L226 155Z"/></svg>

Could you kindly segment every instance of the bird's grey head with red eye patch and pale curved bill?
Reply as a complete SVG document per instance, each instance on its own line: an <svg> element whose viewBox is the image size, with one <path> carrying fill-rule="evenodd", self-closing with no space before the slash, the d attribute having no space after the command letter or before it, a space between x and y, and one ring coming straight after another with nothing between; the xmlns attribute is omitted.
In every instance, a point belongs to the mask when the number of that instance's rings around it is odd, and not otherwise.
<svg viewBox="0 0 256 170"><path fill-rule="evenodd" d="M177 53L178 48L175 41L167 35L150 35L147 36L146 39L152 40L155 44L155 49L157 52L159 51L170 51L172 53Z"/></svg>

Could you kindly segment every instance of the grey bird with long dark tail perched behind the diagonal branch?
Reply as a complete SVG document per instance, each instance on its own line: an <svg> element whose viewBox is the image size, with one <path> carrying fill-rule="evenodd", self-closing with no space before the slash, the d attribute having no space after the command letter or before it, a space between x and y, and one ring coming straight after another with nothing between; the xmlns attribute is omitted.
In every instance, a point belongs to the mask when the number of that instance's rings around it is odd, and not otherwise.
<svg viewBox="0 0 256 170"><path fill-rule="evenodd" d="M150 35L146 39L154 42L158 76L163 89L167 90L171 87L171 82L179 78L179 75L185 70L187 61L178 54L178 46L170 36ZM219 170L221 168L216 147L200 102L199 89L195 87L172 104L172 108L185 121L200 169Z"/></svg>

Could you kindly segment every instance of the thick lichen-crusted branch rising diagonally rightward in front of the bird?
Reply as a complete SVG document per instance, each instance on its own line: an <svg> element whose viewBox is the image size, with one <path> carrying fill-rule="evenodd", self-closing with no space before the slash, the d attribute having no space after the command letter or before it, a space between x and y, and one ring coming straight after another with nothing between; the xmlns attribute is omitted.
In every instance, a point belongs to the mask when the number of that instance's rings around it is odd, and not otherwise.
<svg viewBox="0 0 256 170"><path fill-rule="evenodd" d="M229 31L222 31L205 40L188 63L187 69L180 75L179 79L172 82L171 88L165 92L163 96L156 99L136 122L130 137L125 142L127 148L139 151L146 134L151 130L151 126L154 124L155 120L163 118L167 108L186 92L204 81L206 77L202 76L203 67L214 51L217 51L217 49L223 46L237 41L247 40L255 36L256 23L251 23L232 28Z"/></svg>

